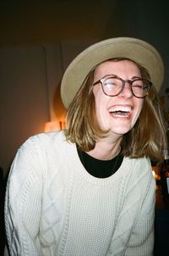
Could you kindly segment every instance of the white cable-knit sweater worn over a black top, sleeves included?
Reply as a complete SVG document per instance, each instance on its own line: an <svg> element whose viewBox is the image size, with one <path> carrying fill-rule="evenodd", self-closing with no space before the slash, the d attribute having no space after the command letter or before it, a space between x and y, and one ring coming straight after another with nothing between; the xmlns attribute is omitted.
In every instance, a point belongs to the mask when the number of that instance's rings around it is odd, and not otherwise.
<svg viewBox="0 0 169 256"><path fill-rule="evenodd" d="M111 177L90 175L63 131L30 137L8 178L11 256L152 255L155 181L148 159L123 159Z"/></svg>

